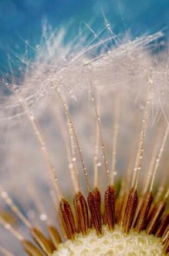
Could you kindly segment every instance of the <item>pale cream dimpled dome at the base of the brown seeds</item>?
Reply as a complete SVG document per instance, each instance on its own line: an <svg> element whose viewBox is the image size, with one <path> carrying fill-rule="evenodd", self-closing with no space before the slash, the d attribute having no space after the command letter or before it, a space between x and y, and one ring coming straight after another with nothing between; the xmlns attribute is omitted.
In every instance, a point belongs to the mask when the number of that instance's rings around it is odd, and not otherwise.
<svg viewBox="0 0 169 256"><path fill-rule="evenodd" d="M160 239L131 230L124 234L119 226L109 231L107 226L102 227L103 235L98 237L93 229L87 236L82 233L76 235L74 241L67 240L58 246L53 256L163 256L163 247Z"/></svg>

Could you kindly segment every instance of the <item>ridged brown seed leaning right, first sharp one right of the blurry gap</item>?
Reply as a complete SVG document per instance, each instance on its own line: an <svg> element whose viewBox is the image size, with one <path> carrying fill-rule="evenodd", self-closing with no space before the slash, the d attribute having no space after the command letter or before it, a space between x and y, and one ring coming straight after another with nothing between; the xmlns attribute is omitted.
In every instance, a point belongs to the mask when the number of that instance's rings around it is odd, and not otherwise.
<svg viewBox="0 0 169 256"><path fill-rule="evenodd" d="M128 234L133 224L136 208L138 204L138 195L135 189L131 189L125 204L124 217L122 220L122 226L124 233Z"/></svg>

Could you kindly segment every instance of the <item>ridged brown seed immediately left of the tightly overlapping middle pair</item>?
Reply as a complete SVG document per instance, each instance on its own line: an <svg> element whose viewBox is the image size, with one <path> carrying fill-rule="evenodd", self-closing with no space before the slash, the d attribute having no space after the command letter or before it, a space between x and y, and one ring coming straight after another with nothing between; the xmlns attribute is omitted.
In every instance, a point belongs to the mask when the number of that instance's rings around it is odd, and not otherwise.
<svg viewBox="0 0 169 256"><path fill-rule="evenodd" d="M81 192L76 193L74 198L74 205L79 229L84 235L86 235L89 229L89 215L86 200Z"/></svg>

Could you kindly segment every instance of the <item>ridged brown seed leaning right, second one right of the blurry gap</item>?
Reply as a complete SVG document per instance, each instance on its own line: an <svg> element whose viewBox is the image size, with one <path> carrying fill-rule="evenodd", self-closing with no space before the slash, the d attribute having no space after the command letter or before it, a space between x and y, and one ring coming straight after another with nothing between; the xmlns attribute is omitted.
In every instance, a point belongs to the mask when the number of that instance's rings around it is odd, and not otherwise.
<svg viewBox="0 0 169 256"><path fill-rule="evenodd" d="M135 229L137 232L141 232L145 227L146 217L149 214L150 207L152 204L152 199L153 197L151 192L144 195L143 198L141 199L142 200L141 207L139 209L138 217L135 224Z"/></svg>

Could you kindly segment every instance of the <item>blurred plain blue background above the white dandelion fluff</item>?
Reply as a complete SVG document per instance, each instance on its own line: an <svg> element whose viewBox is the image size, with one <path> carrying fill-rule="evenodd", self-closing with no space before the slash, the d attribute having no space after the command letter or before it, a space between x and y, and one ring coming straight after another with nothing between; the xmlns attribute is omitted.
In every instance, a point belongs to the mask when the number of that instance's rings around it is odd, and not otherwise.
<svg viewBox="0 0 169 256"><path fill-rule="evenodd" d="M116 34L169 31L168 0L0 0L0 73L8 73L8 55L23 54L25 42L39 44L44 20L55 30L71 24L69 40L84 22L104 25L103 11Z"/></svg>

